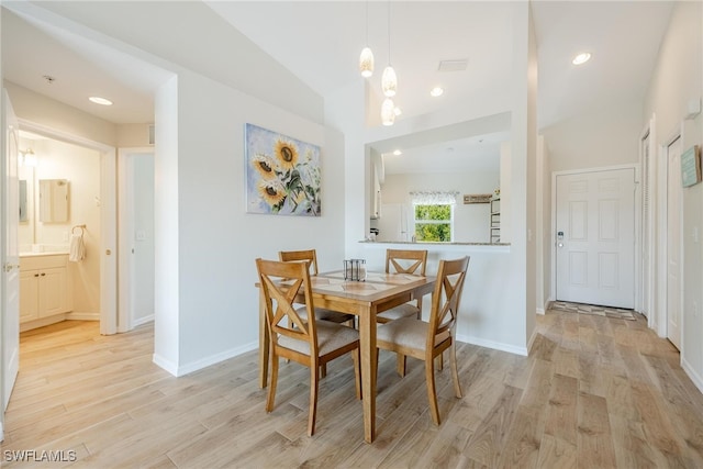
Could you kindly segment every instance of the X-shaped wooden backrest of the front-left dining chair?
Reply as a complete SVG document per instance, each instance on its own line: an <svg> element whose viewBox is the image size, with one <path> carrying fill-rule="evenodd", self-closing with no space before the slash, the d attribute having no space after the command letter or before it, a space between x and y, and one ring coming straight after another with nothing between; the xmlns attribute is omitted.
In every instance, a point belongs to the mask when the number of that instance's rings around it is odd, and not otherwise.
<svg viewBox="0 0 703 469"><path fill-rule="evenodd" d="M256 259L271 343L278 346L280 336L304 340L310 344L310 354L314 355L317 353L317 334L308 264ZM295 311L299 293L305 298L306 321L301 320Z"/></svg>

